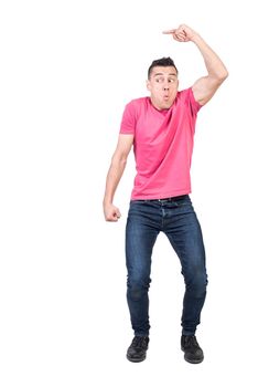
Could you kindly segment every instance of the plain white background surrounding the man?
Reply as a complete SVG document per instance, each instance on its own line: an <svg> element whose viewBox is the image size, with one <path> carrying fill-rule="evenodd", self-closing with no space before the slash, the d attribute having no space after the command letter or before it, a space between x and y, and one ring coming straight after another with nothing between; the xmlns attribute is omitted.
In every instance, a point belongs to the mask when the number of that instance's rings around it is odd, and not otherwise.
<svg viewBox="0 0 258 387"><path fill-rule="evenodd" d="M257 385L257 20L255 1L1 1L0 385ZM205 74L186 23L229 77L198 114L191 195L209 274L190 365L180 349L183 278L159 237L148 359L131 364L125 224L132 155L104 221L101 200L125 104L171 55L180 88Z"/></svg>

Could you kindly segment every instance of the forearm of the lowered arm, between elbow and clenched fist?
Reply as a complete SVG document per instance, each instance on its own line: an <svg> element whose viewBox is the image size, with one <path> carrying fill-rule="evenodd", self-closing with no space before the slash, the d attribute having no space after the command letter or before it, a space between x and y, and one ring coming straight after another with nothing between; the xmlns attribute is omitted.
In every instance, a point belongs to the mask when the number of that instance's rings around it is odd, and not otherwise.
<svg viewBox="0 0 258 387"><path fill-rule="evenodd" d="M123 170L126 168L126 160L112 159L110 168L107 174L106 190L104 196L104 205L112 203L112 199L117 189L117 186L121 179Z"/></svg>

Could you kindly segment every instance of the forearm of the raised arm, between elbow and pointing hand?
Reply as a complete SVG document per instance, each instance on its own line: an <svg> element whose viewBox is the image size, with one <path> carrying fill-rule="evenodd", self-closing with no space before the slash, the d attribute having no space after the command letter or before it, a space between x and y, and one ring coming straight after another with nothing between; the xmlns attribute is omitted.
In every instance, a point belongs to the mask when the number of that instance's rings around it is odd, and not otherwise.
<svg viewBox="0 0 258 387"><path fill-rule="evenodd" d="M197 33L191 39L196 44L201 54L203 55L207 72L209 76L217 80L225 80L228 72L218 55L209 48L209 45Z"/></svg>

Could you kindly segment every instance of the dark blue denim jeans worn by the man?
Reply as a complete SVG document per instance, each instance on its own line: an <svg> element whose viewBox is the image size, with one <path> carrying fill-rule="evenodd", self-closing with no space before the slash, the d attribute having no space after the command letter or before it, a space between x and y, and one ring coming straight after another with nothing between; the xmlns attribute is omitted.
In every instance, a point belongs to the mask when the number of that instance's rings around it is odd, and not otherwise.
<svg viewBox="0 0 258 387"><path fill-rule="evenodd" d="M126 227L127 301L137 336L148 336L151 255L160 231L180 259L185 293L182 334L194 335L206 296L207 274L202 230L189 195L131 200Z"/></svg>

